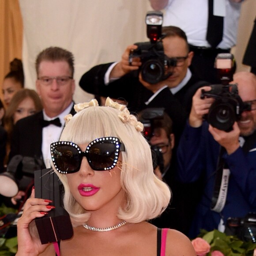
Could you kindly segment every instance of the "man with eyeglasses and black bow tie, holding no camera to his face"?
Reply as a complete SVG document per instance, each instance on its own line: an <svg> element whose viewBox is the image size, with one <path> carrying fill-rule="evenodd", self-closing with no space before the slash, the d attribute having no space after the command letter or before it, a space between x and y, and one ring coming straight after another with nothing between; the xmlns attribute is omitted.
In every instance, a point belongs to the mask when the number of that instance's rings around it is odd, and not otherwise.
<svg viewBox="0 0 256 256"><path fill-rule="evenodd" d="M31 166L34 170L49 167L50 144L59 140L64 117L74 114L74 56L66 49L49 47L38 54L35 67L36 88L43 110L17 122L9 155L9 162L16 155L34 159L35 166ZM24 192L19 192L15 200L24 195ZM12 200L14 204L15 200Z"/></svg>

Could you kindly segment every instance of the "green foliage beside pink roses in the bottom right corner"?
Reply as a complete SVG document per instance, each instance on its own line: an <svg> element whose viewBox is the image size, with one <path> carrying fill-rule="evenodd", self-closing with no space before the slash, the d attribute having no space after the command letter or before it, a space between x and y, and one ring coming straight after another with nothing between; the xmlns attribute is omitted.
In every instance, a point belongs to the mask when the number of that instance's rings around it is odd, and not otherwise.
<svg viewBox="0 0 256 256"><path fill-rule="evenodd" d="M225 256L252 256L256 248L256 243L252 241L241 241L236 236L227 236L218 230L200 230L198 237L202 237L211 245L211 252L220 251ZM207 256L211 256L211 252Z"/></svg>

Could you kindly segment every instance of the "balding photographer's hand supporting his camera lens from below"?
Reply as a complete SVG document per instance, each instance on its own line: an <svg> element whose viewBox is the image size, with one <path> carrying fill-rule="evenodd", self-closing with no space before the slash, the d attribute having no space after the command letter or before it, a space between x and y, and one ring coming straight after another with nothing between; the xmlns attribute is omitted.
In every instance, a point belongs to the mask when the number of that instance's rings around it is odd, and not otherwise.
<svg viewBox="0 0 256 256"><path fill-rule="evenodd" d="M239 135L240 129L237 122L233 124L233 130L225 132L209 125L209 132L213 138L222 146L225 147L228 154L232 154L240 147Z"/></svg>

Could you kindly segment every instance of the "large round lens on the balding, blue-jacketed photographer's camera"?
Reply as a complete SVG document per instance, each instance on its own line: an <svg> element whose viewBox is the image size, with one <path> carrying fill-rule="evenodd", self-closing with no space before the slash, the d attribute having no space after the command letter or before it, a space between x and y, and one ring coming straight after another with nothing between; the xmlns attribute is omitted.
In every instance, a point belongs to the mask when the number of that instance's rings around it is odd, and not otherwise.
<svg viewBox="0 0 256 256"><path fill-rule="evenodd" d="M234 106L229 102L216 100L210 107L208 122L222 131L230 131L236 120Z"/></svg>

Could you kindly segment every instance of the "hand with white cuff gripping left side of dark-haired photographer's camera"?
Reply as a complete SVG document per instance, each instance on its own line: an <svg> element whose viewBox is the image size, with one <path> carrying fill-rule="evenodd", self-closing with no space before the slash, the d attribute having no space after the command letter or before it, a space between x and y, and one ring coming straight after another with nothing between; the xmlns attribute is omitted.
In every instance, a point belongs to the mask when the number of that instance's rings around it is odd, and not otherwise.
<svg viewBox="0 0 256 256"><path fill-rule="evenodd" d="M132 58L129 61L129 55L132 50L137 49L137 45L129 45L123 55L121 60L117 63L117 65L112 69L109 78L119 78L133 70L139 69L141 66L140 58Z"/></svg>

